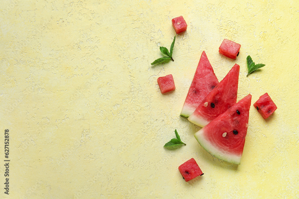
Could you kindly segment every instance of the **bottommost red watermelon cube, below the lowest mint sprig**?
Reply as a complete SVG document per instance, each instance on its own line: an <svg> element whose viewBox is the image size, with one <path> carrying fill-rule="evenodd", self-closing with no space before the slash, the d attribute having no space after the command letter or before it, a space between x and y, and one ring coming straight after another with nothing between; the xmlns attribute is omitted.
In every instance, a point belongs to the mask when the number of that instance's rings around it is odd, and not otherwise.
<svg viewBox="0 0 299 199"><path fill-rule="evenodd" d="M194 158L191 158L190 160L179 166L179 171L186 182L192 180L193 178L196 178L199 175L204 175Z"/></svg>

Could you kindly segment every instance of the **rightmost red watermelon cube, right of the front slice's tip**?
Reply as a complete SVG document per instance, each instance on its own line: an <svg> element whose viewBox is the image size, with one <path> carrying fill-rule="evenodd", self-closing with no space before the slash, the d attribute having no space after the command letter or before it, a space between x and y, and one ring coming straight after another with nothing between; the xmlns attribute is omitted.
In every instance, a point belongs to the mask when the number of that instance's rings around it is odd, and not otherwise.
<svg viewBox="0 0 299 199"><path fill-rule="evenodd" d="M277 109L277 106L274 104L268 93L260 96L253 106L264 119L267 119Z"/></svg>

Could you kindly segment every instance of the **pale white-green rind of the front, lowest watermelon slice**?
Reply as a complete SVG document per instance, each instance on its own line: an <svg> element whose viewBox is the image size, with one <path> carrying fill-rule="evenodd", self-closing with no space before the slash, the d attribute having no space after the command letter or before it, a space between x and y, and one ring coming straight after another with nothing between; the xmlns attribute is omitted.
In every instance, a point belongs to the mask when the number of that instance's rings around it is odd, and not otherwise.
<svg viewBox="0 0 299 199"><path fill-rule="evenodd" d="M233 155L228 153L222 153L213 146L213 143L210 143L207 139L204 137L204 129L200 129L198 132L194 134L194 137L198 141L198 143L211 155L213 155L216 158L219 158L220 160L234 163L234 164L240 164L241 163L241 155Z"/></svg>

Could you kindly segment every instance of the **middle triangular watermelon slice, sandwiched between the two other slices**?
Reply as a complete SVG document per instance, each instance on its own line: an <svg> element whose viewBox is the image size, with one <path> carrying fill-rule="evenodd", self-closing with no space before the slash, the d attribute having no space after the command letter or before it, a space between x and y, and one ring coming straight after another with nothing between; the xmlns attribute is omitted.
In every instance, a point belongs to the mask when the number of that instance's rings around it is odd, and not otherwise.
<svg viewBox="0 0 299 199"><path fill-rule="evenodd" d="M209 124L218 115L237 102L240 66L235 64L222 81L203 99L188 120L200 127Z"/></svg>

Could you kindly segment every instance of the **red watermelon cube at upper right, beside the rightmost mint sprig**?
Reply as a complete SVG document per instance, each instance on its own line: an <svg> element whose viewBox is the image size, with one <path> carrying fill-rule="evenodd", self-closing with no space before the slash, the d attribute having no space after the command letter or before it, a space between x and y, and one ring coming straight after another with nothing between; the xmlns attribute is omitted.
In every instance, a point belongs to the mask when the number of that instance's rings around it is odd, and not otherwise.
<svg viewBox="0 0 299 199"><path fill-rule="evenodd" d="M228 39L223 39L222 44L219 47L219 53L229 58L236 59L239 55L240 44Z"/></svg>

